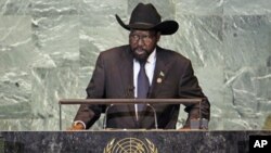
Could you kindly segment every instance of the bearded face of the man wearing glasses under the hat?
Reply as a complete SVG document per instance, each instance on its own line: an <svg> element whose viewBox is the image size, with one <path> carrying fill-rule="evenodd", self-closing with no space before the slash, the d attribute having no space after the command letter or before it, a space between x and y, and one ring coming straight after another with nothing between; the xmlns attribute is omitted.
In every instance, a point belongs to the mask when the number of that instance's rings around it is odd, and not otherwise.
<svg viewBox="0 0 271 153"><path fill-rule="evenodd" d="M131 30L129 43L138 61L146 61L159 40L159 33L154 30Z"/></svg>

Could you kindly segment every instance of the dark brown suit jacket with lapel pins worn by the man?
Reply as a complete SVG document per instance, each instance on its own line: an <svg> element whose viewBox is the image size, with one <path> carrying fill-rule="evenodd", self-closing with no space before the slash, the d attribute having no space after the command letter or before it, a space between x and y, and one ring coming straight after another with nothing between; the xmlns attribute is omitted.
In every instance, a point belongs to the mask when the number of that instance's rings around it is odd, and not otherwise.
<svg viewBox="0 0 271 153"><path fill-rule="evenodd" d="M157 81L162 79L162 82ZM88 99L132 99L133 98L133 56L129 46L117 47L98 58L95 69L87 88ZM209 102L198 86L197 78L190 60L181 54L156 48L156 65L150 99L205 98L202 103L202 116L209 119ZM82 120L87 128L91 127L106 105L81 105L75 120ZM179 104L154 105L158 127L175 129L178 120ZM191 118L198 117L198 104L185 105L189 113L186 125ZM136 120L134 105L115 105L108 110L108 128L154 128L151 109L142 112Z"/></svg>

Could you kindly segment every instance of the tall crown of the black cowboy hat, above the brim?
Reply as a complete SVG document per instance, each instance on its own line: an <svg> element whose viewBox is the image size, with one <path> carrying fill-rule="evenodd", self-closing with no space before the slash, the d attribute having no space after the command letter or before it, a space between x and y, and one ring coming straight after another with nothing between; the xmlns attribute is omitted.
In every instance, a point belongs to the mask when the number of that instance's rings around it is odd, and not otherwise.
<svg viewBox="0 0 271 153"><path fill-rule="evenodd" d="M132 24L147 24L157 25L162 22L160 15L153 4L139 3L132 11L130 17L130 25Z"/></svg>

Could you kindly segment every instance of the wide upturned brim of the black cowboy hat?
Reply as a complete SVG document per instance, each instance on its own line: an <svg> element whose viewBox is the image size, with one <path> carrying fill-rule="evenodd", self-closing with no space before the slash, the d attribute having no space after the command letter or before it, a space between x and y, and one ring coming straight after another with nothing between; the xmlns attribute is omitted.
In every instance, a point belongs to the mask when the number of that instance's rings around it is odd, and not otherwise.
<svg viewBox="0 0 271 153"><path fill-rule="evenodd" d="M143 30L150 30L150 29L155 29L160 31L160 35L172 35L175 34L178 28L179 24L175 21L164 21L157 25L151 25L151 24L145 24L145 23L134 23L134 24L128 24L126 25L120 17L116 14L116 20L119 23L121 27L124 27L127 30L131 29L143 29Z"/></svg>

